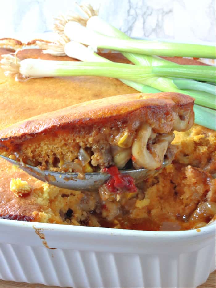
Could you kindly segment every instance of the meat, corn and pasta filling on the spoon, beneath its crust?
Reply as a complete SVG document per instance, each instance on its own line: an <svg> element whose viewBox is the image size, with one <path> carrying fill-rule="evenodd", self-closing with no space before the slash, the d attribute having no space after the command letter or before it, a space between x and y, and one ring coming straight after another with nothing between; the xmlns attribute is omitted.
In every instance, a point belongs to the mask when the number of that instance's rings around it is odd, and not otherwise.
<svg viewBox="0 0 216 288"><path fill-rule="evenodd" d="M147 123L140 124L136 130L127 126L110 129L109 133L107 129L100 129L101 134L95 133L95 137L89 136L85 141L66 134L44 138L42 135L37 142L34 139L24 142L21 152L16 151L9 157L59 172L99 172L112 165L118 169L127 166L128 169L155 170L161 167L174 139L173 132L155 133Z"/></svg>

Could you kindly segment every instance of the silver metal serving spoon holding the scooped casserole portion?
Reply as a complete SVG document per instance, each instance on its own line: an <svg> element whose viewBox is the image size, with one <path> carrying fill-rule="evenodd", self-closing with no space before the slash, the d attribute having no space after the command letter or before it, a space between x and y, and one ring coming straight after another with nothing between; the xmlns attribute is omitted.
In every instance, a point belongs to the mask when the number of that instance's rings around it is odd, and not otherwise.
<svg viewBox="0 0 216 288"><path fill-rule="evenodd" d="M106 180L110 178L109 174L106 173L84 173L84 179L80 179L79 173L64 173L64 172L53 172L49 170L41 170L37 167L20 163L16 160L12 160L6 156L0 155L3 159L9 161L12 164L19 166L22 170L35 178L48 182L51 185L70 189L70 190L86 190L86 191L97 191L99 186L104 184ZM172 159L164 160L161 167L164 168L172 162ZM122 174L128 174L134 178L135 183L142 182L143 180L157 174L161 169L148 170L148 169L137 169L137 170L120 170Z"/></svg>

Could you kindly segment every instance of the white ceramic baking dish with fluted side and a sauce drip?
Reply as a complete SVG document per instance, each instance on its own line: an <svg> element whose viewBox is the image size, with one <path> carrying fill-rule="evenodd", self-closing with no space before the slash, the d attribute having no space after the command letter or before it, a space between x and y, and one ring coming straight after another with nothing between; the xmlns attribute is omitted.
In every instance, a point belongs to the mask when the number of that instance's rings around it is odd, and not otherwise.
<svg viewBox="0 0 216 288"><path fill-rule="evenodd" d="M0 219L4 280L63 287L197 287L214 269L215 222L198 230L155 232Z"/></svg>

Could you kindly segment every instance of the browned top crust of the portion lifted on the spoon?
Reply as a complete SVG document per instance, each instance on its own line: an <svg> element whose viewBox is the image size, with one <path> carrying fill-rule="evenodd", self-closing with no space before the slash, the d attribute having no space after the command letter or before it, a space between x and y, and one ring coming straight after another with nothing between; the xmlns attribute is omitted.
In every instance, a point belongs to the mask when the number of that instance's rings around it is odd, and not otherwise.
<svg viewBox="0 0 216 288"><path fill-rule="evenodd" d="M128 118L149 123L157 133L173 129L181 110L193 111L194 99L178 93L127 94L91 100L18 122L0 131L1 145L20 143L34 134L79 126L110 125ZM191 123L192 125L193 123Z"/></svg>

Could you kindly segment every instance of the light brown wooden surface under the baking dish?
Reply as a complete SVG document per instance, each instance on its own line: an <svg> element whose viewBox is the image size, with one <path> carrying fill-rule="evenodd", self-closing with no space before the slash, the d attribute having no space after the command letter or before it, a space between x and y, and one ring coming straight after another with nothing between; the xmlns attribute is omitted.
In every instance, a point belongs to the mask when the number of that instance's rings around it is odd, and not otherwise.
<svg viewBox="0 0 216 288"><path fill-rule="evenodd" d="M206 281L206 283L202 284L201 286L199 286L199 288L215 288L216 287L216 271L214 271L213 273L211 273L209 275L208 280ZM10 287L25 287L25 288L49 288L49 287L57 287L57 286L46 286L46 285L41 285L41 284L28 284L28 283L17 283L17 282L13 282L13 281L3 281L0 280L0 288L10 288Z"/></svg>

